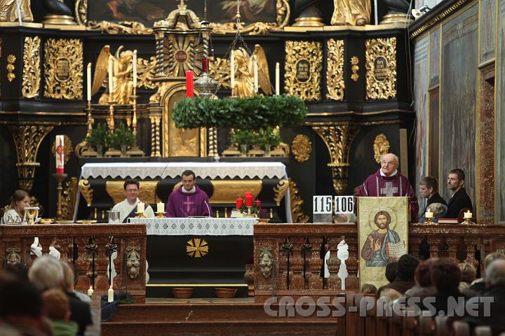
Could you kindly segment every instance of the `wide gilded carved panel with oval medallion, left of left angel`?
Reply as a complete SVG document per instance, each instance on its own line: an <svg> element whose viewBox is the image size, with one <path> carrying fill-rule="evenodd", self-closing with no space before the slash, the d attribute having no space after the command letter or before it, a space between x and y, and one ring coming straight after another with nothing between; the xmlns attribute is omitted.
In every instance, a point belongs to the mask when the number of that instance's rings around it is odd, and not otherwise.
<svg viewBox="0 0 505 336"><path fill-rule="evenodd" d="M78 38L48 38L44 52L44 97L83 99L82 41Z"/></svg>

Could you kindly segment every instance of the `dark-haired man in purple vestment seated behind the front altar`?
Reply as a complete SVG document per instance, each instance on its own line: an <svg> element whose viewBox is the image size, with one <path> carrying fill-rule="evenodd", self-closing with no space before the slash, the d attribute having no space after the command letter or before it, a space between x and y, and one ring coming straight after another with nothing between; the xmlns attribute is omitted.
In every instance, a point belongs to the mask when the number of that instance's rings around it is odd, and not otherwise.
<svg viewBox="0 0 505 336"><path fill-rule="evenodd" d="M168 218L213 216L207 194L195 184L196 175L191 170L182 172L182 186L168 196L166 214Z"/></svg>

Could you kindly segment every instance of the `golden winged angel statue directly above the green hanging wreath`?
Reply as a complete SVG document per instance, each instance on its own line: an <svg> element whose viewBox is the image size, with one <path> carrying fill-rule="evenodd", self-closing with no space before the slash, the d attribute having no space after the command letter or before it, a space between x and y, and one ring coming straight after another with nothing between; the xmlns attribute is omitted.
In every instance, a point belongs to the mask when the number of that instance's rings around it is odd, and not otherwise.
<svg viewBox="0 0 505 336"><path fill-rule="evenodd" d="M272 94L267 55L265 55L262 46L257 44L251 56L249 56L244 48L238 48L234 52L235 87L233 88L232 95L235 97L253 97L255 95L253 79L254 56L256 56L258 64L258 85L264 93Z"/></svg>

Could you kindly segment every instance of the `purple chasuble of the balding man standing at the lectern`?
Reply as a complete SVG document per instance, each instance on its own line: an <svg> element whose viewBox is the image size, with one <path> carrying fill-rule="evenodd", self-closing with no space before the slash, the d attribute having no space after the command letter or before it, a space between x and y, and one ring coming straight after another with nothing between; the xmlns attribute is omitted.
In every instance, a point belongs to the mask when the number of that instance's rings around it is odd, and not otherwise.
<svg viewBox="0 0 505 336"><path fill-rule="evenodd" d="M381 176L380 169L377 170L375 174L368 176L365 182L363 182L357 196L408 196L412 222L415 221L417 211L419 211L419 204L417 203L414 189L408 179L400 173L396 173L393 176Z"/></svg>

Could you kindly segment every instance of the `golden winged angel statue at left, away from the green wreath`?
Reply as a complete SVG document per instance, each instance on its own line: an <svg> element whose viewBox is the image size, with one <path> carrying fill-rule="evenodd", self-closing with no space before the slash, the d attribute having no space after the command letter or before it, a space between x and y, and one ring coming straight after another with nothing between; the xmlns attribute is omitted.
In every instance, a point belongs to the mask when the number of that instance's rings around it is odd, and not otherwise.
<svg viewBox="0 0 505 336"><path fill-rule="evenodd" d="M114 78L112 78L114 90L112 92L112 101L117 105L130 105L133 104L133 51L121 50L123 50L123 45L118 48L114 56ZM98 55L95 76L93 76L93 86L91 87L92 95L97 93L102 85L106 87L105 92L98 101L102 105L109 103L109 82L106 78L108 76L107 68L110 55L110 46L105 45L100 50L100 55Z"/></svg>

